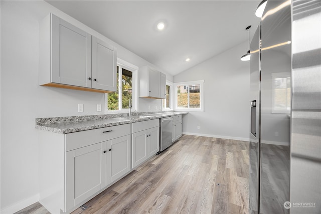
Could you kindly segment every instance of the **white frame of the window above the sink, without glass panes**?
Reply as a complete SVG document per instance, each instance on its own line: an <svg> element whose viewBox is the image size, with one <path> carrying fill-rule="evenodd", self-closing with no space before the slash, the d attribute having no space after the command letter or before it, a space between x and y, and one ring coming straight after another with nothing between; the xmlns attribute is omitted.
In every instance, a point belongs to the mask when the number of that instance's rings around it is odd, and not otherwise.
<svg viewBox="0 0 321 214"><path fill-rule="evenodd" d="M132 112L133 111L137 111L138 112L138 66L135 66L131 63L128 63L120 58L117 57L117 66L119 66L119 70L120 69L126 69L128 71L132 72ZM119 72L118 70L118 72ZM120 75L119 75L120 76ZM120 78L119 78L120 79ZM119 81L119 79L117 79L117 81ZM118 82L118 92L122 94L122 90L121 90L121 82ZM108 93L105 93L105 97L104 97L104 109L105 109L105 114L115 114L115 113L127 113L129 110L128 109L122 109L119 108L119 110L108 110ZM118 106L121 107L122 106L122 96L118 97Z"/></svg>

